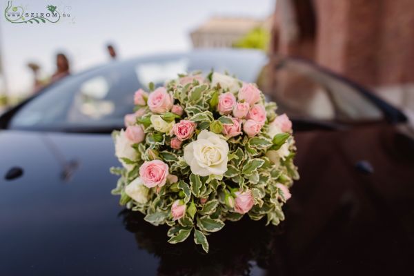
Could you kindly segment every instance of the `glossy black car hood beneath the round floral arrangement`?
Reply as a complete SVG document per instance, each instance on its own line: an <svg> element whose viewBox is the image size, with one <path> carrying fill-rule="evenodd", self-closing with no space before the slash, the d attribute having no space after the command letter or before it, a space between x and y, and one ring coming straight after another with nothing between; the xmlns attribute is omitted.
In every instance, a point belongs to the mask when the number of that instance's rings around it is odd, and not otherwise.
<svg viewBox="0 0 414 276"><path fill-rule="evenodd" d="M404 272L414 248L412 140L376 126L295 139L301 179L286 221L228 222L205 255L192 239L168 244L166 227L119 206L110 135L4 130L0 275ZM23 174L5 180L12 167Z"/></svg>

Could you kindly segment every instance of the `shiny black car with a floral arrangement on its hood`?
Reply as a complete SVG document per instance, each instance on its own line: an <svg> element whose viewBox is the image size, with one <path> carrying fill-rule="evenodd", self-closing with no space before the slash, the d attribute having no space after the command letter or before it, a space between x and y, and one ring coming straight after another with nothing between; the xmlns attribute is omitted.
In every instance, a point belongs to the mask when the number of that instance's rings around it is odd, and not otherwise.
<svg viewBox="0 0 414 276"><path fill-rule="evenodd" d="M293 119L301 179L277 227L228 222L210 253L112 196L110 132L133 92L177 72L257 82ZM115 61L0 117L0 275L412 275L414 142L406 117L333 72L253 50ZM251 238L253 237L253 238Z"/></svg>

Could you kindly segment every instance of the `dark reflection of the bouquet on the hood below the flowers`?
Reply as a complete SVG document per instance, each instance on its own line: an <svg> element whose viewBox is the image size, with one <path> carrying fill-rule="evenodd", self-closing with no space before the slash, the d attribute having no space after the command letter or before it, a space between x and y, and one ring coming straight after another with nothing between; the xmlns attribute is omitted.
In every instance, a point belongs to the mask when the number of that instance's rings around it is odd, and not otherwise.
<svg viewBox="0 0 414 276"><path fill-rule="evenodd" d="M265 227L264 221L247 218L229 223L209 237L206 254L190 240L169 244L164 239L166 227L148 224L141 213L124 209L120 215L137 246L159 257L158 275L250 275L252 269L266 270L270 265L273 270L277 248L282 248L277 242L283 224Z"/></svg>

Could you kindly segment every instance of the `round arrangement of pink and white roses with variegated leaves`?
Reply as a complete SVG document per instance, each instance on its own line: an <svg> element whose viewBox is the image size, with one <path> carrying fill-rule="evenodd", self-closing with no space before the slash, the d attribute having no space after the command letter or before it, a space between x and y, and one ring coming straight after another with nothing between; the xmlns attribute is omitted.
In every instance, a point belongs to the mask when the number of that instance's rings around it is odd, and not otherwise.
<svg viewBox="0 0 414 276"><path fill-rule="evenodd" d="M123 168L120 204L167 224L168 242L194 242L208 252L207 236L225 221L284 220L282 206L298 179L292 123L277 115L254 83L210 72L179 75L165 87L135 92L126 130L114 131Z"/></svg>

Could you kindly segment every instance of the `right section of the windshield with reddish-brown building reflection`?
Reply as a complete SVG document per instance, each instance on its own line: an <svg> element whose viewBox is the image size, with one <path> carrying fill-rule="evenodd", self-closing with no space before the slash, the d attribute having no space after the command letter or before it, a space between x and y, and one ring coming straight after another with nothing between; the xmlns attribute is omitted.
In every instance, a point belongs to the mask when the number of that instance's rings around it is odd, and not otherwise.
<svg viewBox="0 0 414 276"><path fill-rule="evenodd" d="M371 121L384 117L380 108L346 81L322 72L308 63L286 62L274 72L265 67L259 82L273 98L279 112L291 117L327 121ZM269 83L269 80L273 83Z"/></svg>

